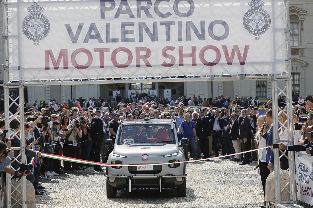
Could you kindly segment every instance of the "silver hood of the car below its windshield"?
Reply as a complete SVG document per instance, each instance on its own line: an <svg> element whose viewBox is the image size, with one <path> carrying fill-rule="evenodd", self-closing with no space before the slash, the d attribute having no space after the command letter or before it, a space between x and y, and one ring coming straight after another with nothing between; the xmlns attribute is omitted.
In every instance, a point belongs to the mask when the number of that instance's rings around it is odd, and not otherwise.
<svg viewBox="0 0 313 208"><path fill-rule="evenodd" d="M127 146L116 145L113 152L124 156L164 156L173 154L179 151L176 144L166 144L164 146Z"/></svg>

